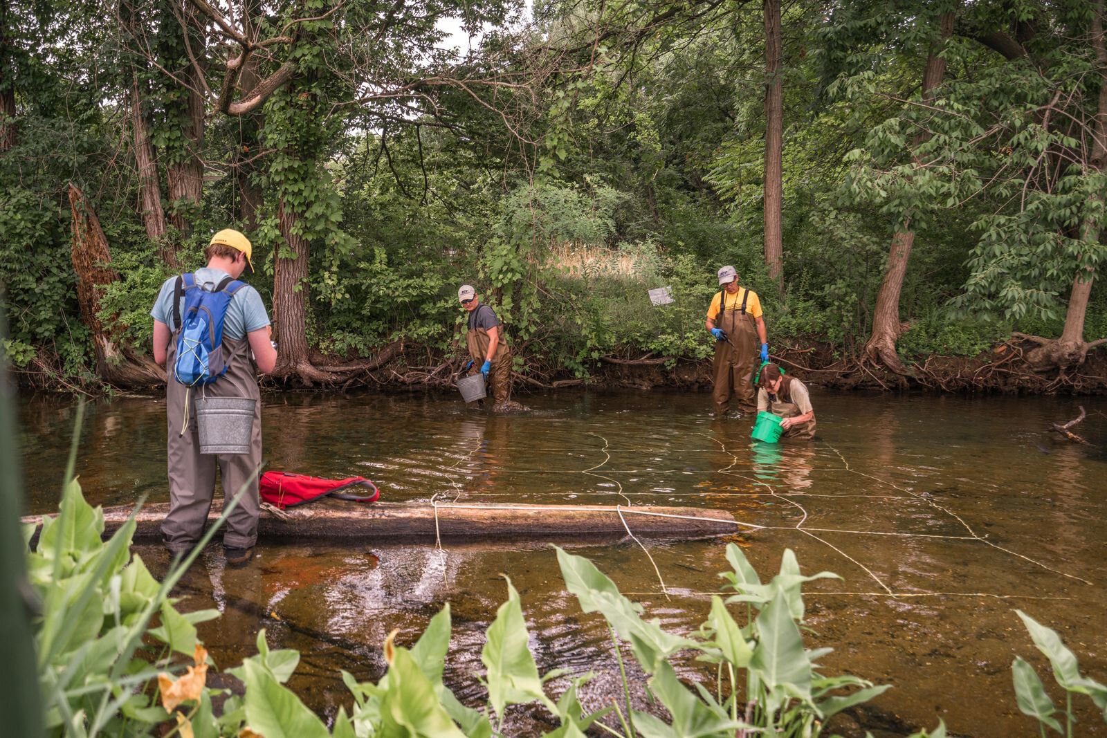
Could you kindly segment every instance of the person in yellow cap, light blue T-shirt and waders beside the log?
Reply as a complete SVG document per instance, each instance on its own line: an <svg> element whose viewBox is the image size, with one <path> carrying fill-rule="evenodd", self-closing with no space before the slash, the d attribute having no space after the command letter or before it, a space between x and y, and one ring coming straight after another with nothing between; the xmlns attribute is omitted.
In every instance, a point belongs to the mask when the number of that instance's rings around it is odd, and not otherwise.
<svg viewBox="0 0 1107 738"><path fill-rule="evenodd" d="M162 522L165 547L172 553L186 553L199 541L207 524L208 509L215 495L218 468L224 498L242 489L238 506L227 519L223 534L224 555L231 567L245 565L254 555L258 538L258 467L261 464L261 395L258 372L268 374L277 364L277 344L261 295L238 281L250 263L252 247L237 230L225 229L211 237L204 251L207 266L195 272L170 277L162 284L149 314L154 319L154 361L166 366L166 418L168 420L169 512ZM255 399L254 427L248 454L206 455L199 451L196 423L188 422L190 392L183 383L177 362L182 326L188 326L186 305L206 293L229 293L224 300L223 339L219 363L226 372L210 384L203 384L208 397L248 397ZM189 302L189 300L193 302ZM220 304L216 302L215 304ZM185 319L182 315L185 315ZM185 331L187 333L187 330ZM206 352L203 353L207 360ZM187 355L182 352L182 355ZM211 367L221 371L221 366Z"/></svg>

